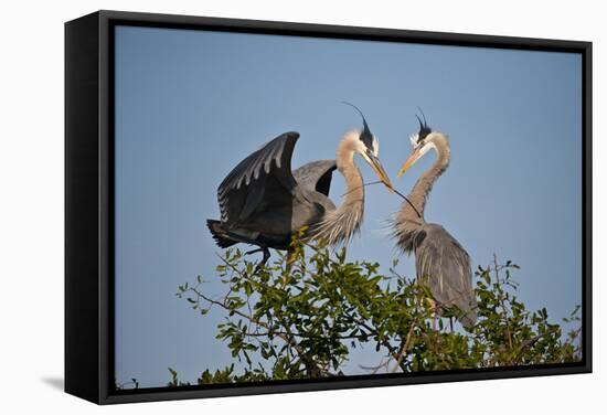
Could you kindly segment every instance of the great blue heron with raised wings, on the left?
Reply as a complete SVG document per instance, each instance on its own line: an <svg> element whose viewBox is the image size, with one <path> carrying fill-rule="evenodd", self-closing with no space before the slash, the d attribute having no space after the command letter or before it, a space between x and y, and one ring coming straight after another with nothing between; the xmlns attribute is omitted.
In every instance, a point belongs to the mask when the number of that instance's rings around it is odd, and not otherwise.
<svg viewBox="0 0 607 415"><path fill-rule="evenodd" d="M220 247L237 243L258 246L249 253L263 252L262 264L265 264L269 258L268 248L288 249L291 235L302 227L308 227L307 237L323 240L329 245L345 243L359 231L364 211L364 182L354 155L361 155L388 189L392 184L377 159L377 139L362 113L354 108L362 117L363 130L343 136L336 160L312 161L291 172L291 156L299 134L285 132L227 174L217 190L221 221L206 221ZM339 208L329 199L336 169L347 184Z"/></svg>

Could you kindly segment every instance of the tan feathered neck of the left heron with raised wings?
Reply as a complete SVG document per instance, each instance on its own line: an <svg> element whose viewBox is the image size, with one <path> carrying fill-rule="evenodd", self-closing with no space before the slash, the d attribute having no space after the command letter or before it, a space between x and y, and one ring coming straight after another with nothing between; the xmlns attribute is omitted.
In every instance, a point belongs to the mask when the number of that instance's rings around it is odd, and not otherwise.
<svg viewBox="0 0 607 415"><path fill-rule="evenodd" d="M352 131L340 141L337 151L338 170L345 179L345 194L338 209L324 214L316 237L329 245L348 242L360 228L364 213L364 182L354 163L356 140L360 132Z"/></svg>

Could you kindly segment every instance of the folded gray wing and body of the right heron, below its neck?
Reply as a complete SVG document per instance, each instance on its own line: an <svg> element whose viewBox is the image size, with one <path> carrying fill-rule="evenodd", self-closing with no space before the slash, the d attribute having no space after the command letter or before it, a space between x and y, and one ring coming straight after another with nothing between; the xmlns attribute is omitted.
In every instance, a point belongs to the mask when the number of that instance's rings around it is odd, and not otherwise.
<svg viewBox="0 0 607 415"><path fill-rule="evenodd" d="M424 237L415 248L417 277L427 278L435 299L443 306L457 306L465 326L475 323L476 297L470 257L443 226L426 224Z"/></svg>

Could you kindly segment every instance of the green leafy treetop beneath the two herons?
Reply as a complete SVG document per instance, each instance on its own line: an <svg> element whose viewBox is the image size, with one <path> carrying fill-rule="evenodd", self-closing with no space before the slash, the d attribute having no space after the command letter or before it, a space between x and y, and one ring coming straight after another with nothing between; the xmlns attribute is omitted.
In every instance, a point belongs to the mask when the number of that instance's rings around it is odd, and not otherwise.
<svg viewBox="0 0 607 415"><path fill-rule="evenodd" d="M563 319L576 329L565 336L549 321L546 309L530 311L517 297L511 262L479 267L475 284L478 321L452 323L459 310L436 317L432 294L420 281L401 276L397 262L388 275L380 265L348 262L294 240L292 253L257 267L239 249L227 249L216 267L225 292L204 290L204 279L179 287L178 297L205 315L225 312L216 338L238 362L205 370L198 384L344 375L352 349L372 345L379 362L369 373L419 372L574 362L581 359L579 307ZM214 277L215 278L215 277ZM450 317L451 316L451 317ZM455 327L454 327L455 326ZM170 369L169 385L178 386Z"/></svg>

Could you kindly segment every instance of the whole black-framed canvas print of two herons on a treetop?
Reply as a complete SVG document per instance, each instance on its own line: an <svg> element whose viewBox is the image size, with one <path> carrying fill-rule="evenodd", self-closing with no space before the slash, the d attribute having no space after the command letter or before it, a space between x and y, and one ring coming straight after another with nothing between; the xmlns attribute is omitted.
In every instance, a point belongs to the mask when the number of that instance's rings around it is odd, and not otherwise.
<svg viewBox="0 0 607 415"><path fill-rule="evenodd" d="M590 60L574 41L66 23L66 392L589 372Z"/></svg>

